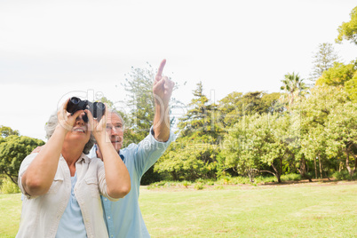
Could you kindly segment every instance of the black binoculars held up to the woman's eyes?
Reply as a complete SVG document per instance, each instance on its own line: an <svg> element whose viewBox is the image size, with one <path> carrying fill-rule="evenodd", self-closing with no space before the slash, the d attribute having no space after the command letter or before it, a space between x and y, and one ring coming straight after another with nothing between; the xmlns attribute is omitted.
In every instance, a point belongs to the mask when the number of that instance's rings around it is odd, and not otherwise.
<svg viewBox="0 0 357 238"><path fill-rule="evenodd" d="M81 100L76 97L69 99L67 104L67 112L73 115L76 111L89 109L91 115L100 121L102 115L106 112L106 106L102 102L90 102L89 100ZM83 121L88 123L88 115L83 115Z"/></svg>

